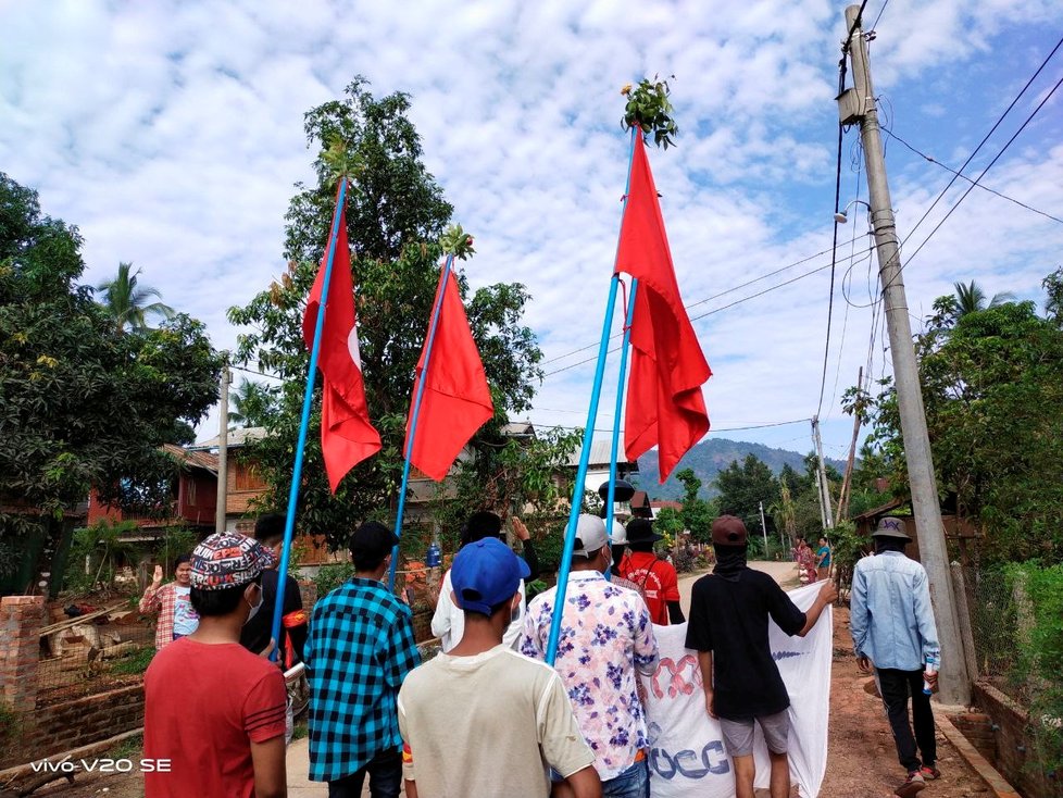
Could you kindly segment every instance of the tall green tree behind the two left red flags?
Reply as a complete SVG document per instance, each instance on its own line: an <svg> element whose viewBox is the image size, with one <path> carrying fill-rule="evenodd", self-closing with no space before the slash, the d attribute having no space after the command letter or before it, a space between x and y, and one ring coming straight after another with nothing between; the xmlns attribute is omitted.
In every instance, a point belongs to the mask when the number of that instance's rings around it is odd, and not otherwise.
<svg viewBox="0 0 1063 798"><path fill-rule="evenodd" d="M248 452L259 461L268 483L266 502L284 506L309 360L302 315L333 215L334 153L337 149L346 151L346 162L351 166L347 227L362 372L383 449L355 466L335 497L329 495L321 460L321 377L315 375L315 412L300 490L300 522L303 528L325 534L337 545L346 541L359 521L387 518L392 512L414 367L439 277L438 240L452 212L422 161L421 138L408 119L409 107L405 95L396 92L377 99L365 80L357 78L342 99L307 113L309 146L317 152L317 182L297 185L286 215L288 271L246 307L228 312L234 324L254 331L240 337L237 360L255 362L285 381L278 408L266 420L271 435ZM542 354L534 333L523 323L529 299L523 285L500 283L473 292L460 269L454 270L454 277L496 409L495 419L473 441L482 457L467 467L477 467L477 463L488 462L491 447L504 444L502 429L510 414L530 407L541 378L538 363Z"/></svg>

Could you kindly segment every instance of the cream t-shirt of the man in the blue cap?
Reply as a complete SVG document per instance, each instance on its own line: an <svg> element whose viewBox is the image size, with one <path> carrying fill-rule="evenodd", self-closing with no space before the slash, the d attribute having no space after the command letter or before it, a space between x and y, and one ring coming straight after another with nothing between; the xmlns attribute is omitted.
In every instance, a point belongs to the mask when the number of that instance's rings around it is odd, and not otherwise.
<svg viewBox="0 0 1063 798"><path fill-rule="evenodd" d="M558 672L504 645L439 654L398 705L402 775L422 798L547 796L548 766L571 776L595 762Z"/></svg>

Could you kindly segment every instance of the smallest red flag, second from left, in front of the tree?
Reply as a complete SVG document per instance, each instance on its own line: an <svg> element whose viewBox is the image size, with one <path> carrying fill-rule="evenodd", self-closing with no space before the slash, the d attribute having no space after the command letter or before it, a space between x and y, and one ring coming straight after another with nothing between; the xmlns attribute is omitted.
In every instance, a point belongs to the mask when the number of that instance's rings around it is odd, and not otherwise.
<svg viewBox="0 0 1063 798"><path fill-rule="evenodd" d="M417 386L425 381L417 415L417 433L410 462L436 482L447 476L450 466L477 429L495 414L495 403L487 386L484 364L468 328L465 306L458 290L458 277L451 273L446 289L442 274L436 288L435 308L439 304L439 291L443 291L436 324L436 337L432 345L432 361L425 374L425 352L421 351L417 377L413 383L410 415L407 416L407 446L410 445L410 424ZM430 322L429 322L430 329Z"/></svg>

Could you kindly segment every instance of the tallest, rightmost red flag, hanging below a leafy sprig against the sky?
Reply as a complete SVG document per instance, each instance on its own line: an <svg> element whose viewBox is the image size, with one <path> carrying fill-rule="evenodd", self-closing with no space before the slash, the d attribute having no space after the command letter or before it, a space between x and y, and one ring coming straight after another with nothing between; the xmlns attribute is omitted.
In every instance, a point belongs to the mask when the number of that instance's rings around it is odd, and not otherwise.
<svg viewBox="0 0 1063 798"><path fill-rule="evenodd" d="M638 278L624 448L635 460L656 445L663 483L709 432L701 386L712 371L679 297L646 144L636 139L616 252L616 271Z"/></svg>

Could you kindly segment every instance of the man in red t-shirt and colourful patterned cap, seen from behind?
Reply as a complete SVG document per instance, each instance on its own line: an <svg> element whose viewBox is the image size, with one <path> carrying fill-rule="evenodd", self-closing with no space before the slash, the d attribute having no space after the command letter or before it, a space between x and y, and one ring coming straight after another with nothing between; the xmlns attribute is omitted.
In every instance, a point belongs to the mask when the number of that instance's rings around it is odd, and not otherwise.
<svg viewBox="0 0 1063 798"><path fill-rule="evenodd" d="M145 773L145 796L285 796L284 677L240 646L274 557L251 538L218 533L189 564L199 626L155 654L145 674L143 756L170 765Z"/></svg>

